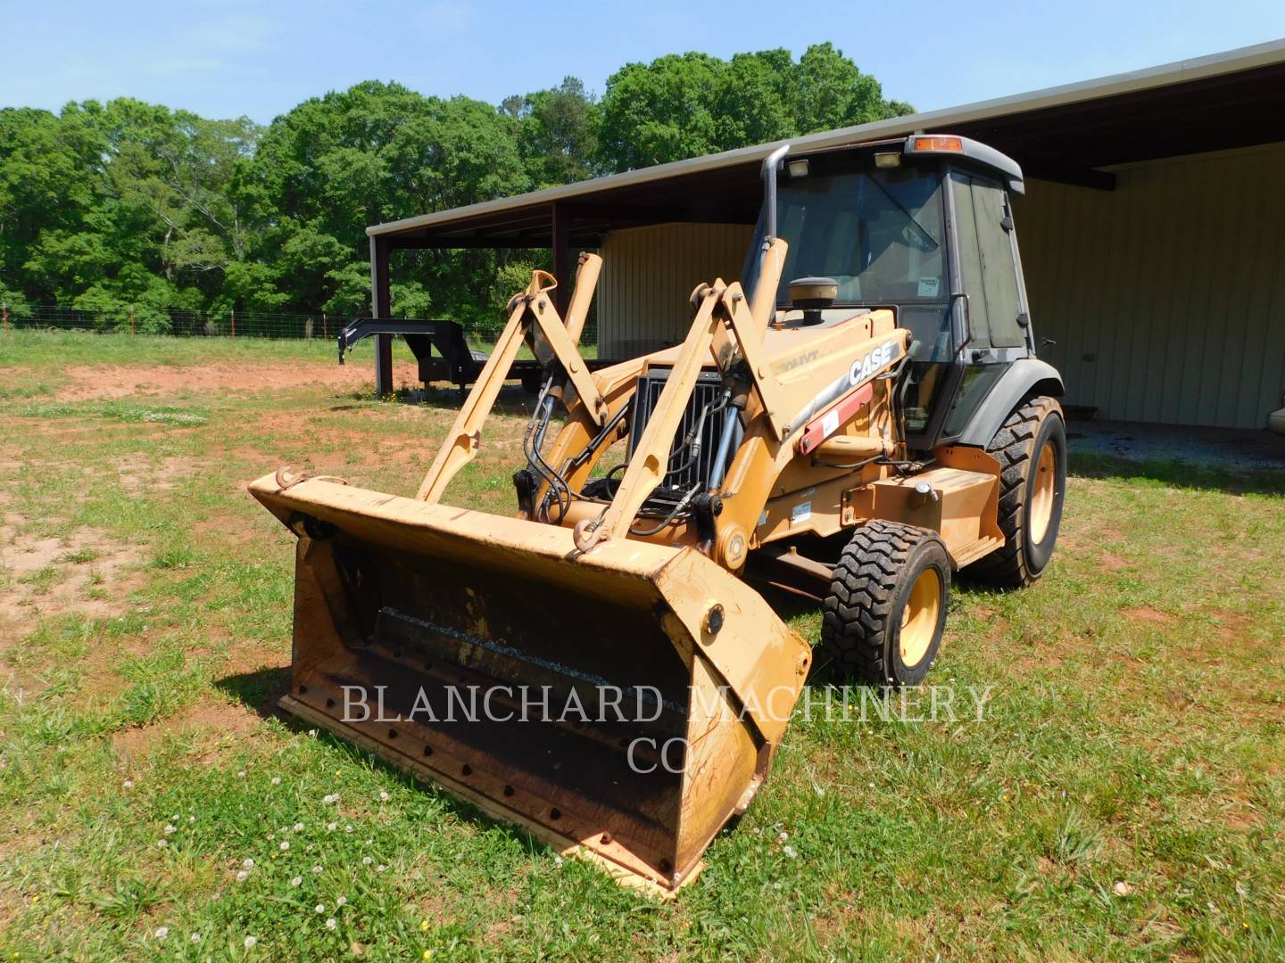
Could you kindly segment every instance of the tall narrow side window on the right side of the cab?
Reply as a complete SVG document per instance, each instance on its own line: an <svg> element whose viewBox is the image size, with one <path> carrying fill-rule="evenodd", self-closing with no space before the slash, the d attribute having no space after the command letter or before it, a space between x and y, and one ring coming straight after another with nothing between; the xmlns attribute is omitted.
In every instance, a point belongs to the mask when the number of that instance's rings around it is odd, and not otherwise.
<svg viewBox="0 0 1285 963"><path fill-rule="evenodd" d="M1019 348L1025 343L1025 333L1018 321L1022 304L1007 198L996 181L959 171L951 173L951 189L973 344Z"/></svg>

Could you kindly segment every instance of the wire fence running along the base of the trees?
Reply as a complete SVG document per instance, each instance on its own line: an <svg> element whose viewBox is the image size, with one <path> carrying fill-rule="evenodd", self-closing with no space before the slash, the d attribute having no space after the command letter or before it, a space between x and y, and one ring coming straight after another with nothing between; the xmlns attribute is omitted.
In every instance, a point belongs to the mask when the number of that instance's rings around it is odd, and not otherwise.
<svg viewBox="0 0 1285 963"><path fill-rule="evenodd" d="M351 318L262 311L182 311L108 306L64 308L55 304L0 306L0 325L9 330L96 331L100 334L152 334L176 338L334 338Z"/></svg>

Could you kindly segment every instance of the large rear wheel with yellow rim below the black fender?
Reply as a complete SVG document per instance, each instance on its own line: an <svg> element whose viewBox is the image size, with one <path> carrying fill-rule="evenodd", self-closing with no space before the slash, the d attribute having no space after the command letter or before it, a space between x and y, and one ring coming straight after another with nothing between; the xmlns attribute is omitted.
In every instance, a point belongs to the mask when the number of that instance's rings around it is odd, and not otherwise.
<svg viewBox="0 0 1285 963"><path fill-rule="evenodd" d="M1022 403L987 451L998 458L1004 547L969 566L997 588L1023 588L1049 568L1067 492L1067 425L1055 398Z"/></svg>

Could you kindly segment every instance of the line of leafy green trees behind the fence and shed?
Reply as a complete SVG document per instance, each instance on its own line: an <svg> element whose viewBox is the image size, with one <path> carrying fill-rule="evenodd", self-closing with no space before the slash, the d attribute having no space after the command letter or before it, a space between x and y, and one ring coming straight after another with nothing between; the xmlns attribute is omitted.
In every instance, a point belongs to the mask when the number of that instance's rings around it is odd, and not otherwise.
<svg viewBox="0 0 1285 963"><path fill-rule="evenodd" d="M368 225L908 113L830 44L630 63L500 105L366 81L266 126L122 98L0 110L0 299L136 313L369 309ZM419 250L393 313L491 318L529 250ZM127 306L127 307L126 307Z"/></svg>

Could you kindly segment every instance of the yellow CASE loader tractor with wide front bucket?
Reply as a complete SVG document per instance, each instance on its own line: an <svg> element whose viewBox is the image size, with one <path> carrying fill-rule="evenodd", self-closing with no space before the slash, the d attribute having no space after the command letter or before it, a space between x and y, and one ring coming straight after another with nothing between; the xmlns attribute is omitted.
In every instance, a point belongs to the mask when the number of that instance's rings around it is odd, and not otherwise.
<svg viewBox="0 0 1285 963"><path fill-rule="evenodd" d="M765 163L739 281L667 351L590 371L535 272L414 497L280 470L298 539L283 706L672 892L767 776L813 669L915 684L959 569L1049 565L1061 380L1036 360L1009 194L965 137ZM450 505L504 376L546 360L514 512ZM813 654L753 584L815 597Z"/></svg>

